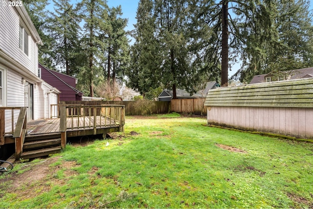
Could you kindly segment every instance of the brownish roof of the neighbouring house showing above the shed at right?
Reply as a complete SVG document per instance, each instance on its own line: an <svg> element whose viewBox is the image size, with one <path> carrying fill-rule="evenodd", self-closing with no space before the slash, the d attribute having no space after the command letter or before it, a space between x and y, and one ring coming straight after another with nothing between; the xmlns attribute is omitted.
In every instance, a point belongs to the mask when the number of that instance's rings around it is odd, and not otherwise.
<svg viewBox="0 0 313 209"><path fill-rule="evenodd" d="M265 82L266 76L270 73L272 73L272 72L269 72L267 74L262 74L262 75L255 75L252 78L252 80L250 81L250 84ZM296 69L296 70L288 70L288 71L286 71L286 74L291 75L291 77L289 79L311 78L311 77L313 77L313 67L312 68Z"/></svg>

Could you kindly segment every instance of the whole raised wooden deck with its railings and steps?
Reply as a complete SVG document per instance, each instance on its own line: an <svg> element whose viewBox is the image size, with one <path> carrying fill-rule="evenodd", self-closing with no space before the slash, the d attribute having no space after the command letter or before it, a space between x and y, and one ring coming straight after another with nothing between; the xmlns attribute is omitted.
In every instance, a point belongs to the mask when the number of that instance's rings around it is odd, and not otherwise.
<svg viewBox="0 0 313 209"><path fill-rule="evenodd" d="M33 158L52 154L64 148L69 137L100 135L124 131L125 106L122 105L57 105L55 118L27 121L26 107L0 108L0 145L15 143L15 157ZM5 131L5 112L11 131ZM19 117L14 125L15 113ZM10 120L9 120L10 119ZM32 142L31 142L32 141ZM54 146L54 147L52 147ZM55 147L56 146L56 147ZM52 147L52 148L51 148ZM36 149L36 150L35 150Z"/></svg>

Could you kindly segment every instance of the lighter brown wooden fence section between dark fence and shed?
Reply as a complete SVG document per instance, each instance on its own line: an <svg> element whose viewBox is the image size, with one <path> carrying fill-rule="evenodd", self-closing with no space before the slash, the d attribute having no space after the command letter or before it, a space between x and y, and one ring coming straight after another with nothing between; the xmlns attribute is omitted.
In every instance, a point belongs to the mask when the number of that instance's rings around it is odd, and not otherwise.
<svg viewBox="0 0 313 209"><path fill-rule="evenodd" d="M204 108L204 101L205 101L205 98L172 99L171 100L171 112L206 115L206 108Z"/></svg>

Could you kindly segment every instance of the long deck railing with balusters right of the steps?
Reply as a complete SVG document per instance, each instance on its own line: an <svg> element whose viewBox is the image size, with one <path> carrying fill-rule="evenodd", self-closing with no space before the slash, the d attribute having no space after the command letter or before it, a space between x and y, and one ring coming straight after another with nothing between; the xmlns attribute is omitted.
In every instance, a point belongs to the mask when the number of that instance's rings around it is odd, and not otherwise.
<svg viewBox="0 0 313 209"><path fill-rule="evenodd" d="M59 105L61 145L66 145L66 132L84 129L119 127L124 131L125 106L124 105Z"/></svg>

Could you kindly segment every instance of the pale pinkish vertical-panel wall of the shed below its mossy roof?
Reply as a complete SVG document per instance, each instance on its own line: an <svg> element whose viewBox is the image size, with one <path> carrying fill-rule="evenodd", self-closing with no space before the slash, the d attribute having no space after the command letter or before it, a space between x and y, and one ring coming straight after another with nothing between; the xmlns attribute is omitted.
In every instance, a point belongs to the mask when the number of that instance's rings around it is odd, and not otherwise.
<svg viewBox="0 0 313 209"><path fill-rule="evenodd" d="M222 125L247 131L275 133L297 138L313 139L313 108L292 108L291 110L290 108L232 107L230 111L233 114L230 114L230 116L234 118L227 118L227 121L223 119L224 108L225 107L208 108L208 124ZM244 119L246 121L245 123L236 120L239 113L245 113L245 116L241 114L241 119ZM256 113L259 118L268 118L268 121L273 122L266 122L267 120L263 119L246 119L247 115L250 116L250 114Z"/></svg>

